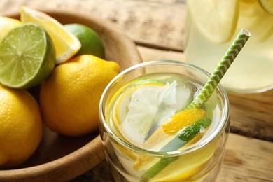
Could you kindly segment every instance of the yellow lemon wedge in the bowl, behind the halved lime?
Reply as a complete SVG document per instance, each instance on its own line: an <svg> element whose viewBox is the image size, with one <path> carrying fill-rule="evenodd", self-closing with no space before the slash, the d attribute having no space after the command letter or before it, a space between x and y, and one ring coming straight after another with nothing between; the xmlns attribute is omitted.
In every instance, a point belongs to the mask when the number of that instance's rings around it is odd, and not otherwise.
<svg viewBox="0 0 273 182"><path fill-rule="evenodd" d="M22 6L21 21L34 22L41 25L48 32L55 45L56 64L66 62L80 50L81 45L78 38L65 29L60 22L50 17L50 15Z"/></svg>

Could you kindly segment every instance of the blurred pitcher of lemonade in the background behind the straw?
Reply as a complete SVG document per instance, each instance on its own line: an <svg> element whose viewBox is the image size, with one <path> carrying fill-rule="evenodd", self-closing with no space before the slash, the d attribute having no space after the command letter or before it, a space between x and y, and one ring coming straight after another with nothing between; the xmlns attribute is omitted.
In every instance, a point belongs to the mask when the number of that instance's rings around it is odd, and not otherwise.
<svg viewBox="0 0 273 182"><path fill-rule="evenodd" d="M186 3L186 62L212 73L239 30L245 28L251 32L251 38L221 83L228 92L255 93L272 89L272 2L190 0Z"/></svg>

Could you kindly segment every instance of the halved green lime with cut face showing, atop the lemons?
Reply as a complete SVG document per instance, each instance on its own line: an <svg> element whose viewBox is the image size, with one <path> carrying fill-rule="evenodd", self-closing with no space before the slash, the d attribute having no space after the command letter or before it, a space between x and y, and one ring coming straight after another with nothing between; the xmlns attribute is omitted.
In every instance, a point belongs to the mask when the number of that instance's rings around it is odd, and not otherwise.
<svg viewBox="0 0 273 182"><path fill-rule="evenodd" d="M24 89L38 85L55 68L55 57L52 40L42 27L19 25L0 41L0 83Z"/></svg>

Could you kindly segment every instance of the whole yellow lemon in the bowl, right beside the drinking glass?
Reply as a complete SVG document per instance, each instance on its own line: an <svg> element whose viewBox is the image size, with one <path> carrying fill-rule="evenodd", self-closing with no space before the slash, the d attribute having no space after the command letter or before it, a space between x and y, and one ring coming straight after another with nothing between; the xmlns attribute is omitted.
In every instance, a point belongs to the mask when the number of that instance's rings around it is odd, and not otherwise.
<svg viewBox="0 0 273 182"><path fill-rule="evenodd" d="M41 85L40 105L48 127L71 137L98 129L99 100L119 73L116 62L80 55L55 68Z"/></svg>

